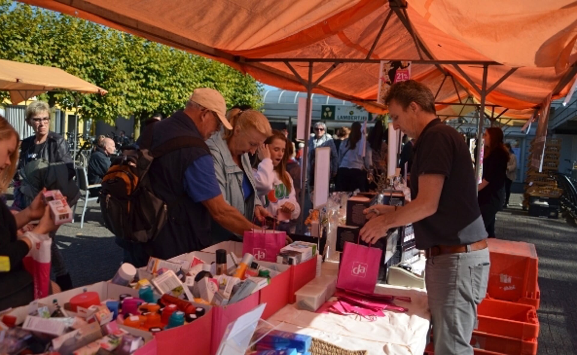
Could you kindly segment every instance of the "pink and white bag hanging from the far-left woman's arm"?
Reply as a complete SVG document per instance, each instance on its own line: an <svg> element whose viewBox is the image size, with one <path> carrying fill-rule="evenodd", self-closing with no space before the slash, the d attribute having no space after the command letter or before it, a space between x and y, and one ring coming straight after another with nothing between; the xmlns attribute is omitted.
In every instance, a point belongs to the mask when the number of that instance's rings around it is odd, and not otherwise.
<svg viewBox="0 0 577 355"><path fill-rule="evenodd" d="M32 249L22 262L34 280L34 298L48 296L50 289L50 246L52 240L47 235L35 234Z"/></svg>

